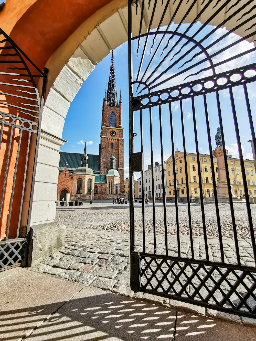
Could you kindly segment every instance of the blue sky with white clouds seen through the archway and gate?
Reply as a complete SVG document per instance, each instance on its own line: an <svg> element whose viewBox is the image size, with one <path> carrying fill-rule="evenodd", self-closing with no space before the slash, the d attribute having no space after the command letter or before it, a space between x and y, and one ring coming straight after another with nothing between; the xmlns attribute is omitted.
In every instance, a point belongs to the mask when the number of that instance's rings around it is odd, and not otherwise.
<svg viewBox="0 0 256 341"><path fill-rule="evenodd" d="M193 34L196 30L200 29L200 23L194 25L193 31L190 34ZM187 24L181 25L180 31L185 31L187 28ZM197 36L197 40L200 40L203 35L210 32L212 26L207 26L204 29L204 32L200 32ZM170 30L175 30L175 25L173 24ZM199 30L200 31L200 30ZM240 37L231 33L227 38L223 39L218 44L214 44L215 40L225 34L227 31L225 29L217 30L212 36L210 36L203 44L208 46L212 44L211 48L208 49L209 54L213 54L219 49L223 48L231 44L234 41L237 41ZM155 40L155 45L152 49L152 54L154 53L154 49L158 45L161 36L158 36ZM150 42L147 45L147 53L144 57L141 73L139 79L142 77L143 72L148 65L151 56L149 50L151 48L151 43L153 41L153 36L150 37ZM168 42L168 38L163 40L161 46L165 46ZM162 48L156 52L156 58L154 62L150 66L150 68L146 71L146 77L150 76L151 72L155 69L160 60L167 55L168 51L175 45L178 38L174 37L173 40L169 42L168 48L166 48L165 53L162 56ZM141 60L141 54L143 50L143 44L145 43L145 38L141 39L139 55L137 56L137 48L138 44L136 41L133 42L133 79L136 79L138 74L139 62ZM166 62L164 62L161 67L156 71L156 74L160 74L162 71L166 69L175 58L179 58L179 49L181 44L184 41L181 41L176 49L174 48L172 55L176 52L177 55L170 61L171 58L167 58ZM185 51L188 51L189 48L193 47L192 43L189 43L185 47ZM247 49L251 49L252 44L248 42L241 42L238 45L231 47L227 51L222 54L219 54L213 58L214 63L218 63L219 61L225 60L229 57L240 53L240 51L244 51ZM188 53L186 56L177 64L173 66L173 68L166 73L163 74L161 80L166 80L166 83L161 86L161 88L167 88L169 86L181 84L187 82L189 80L205 77L211 75L211 71L207 70L201 72L196 76L189 76L192 73L198 71L198 67L193 67L193 63L203 60L205 58L204 54L200 54L200 49L195 49L195 52L198 52L198 56L194 58L191 62L188 62L184 66L182 64L184 61L189 60L193 53ZM128 44L124 43L114 50L114 61L115 61L115 73L116 73L116 84L117 84L117 94L119 99L120 87L122 89L122 100L123 100L123 128L124 128L124 167L125 167L125 176L128 176L129 172L129 113L128 113ZM224 65L220 65L216 68L217 73L225 70L230 70L236 68L238 66L250 64L256 61L255 53L251 53L240 57L239 59L232 60L229 63ZM76 152L82 153L84 148L85 137L88 142L88 153L90 154L98 154L99 143L100 143L100 130L101 130L101 109L102 109L102 101L105 93L105 86L108 84L109 79L109 70L110 70L110 62L111 62L111 54L105 57L99 65L96 65L95 70L91 72L89 77L84 81L81 89L77 93L73 102L70 105L70 109L68 111L66 122L63 129L62 137L68 142L62 146L61 150L66 152ZM203 67L209 66L209 62L205 61ZM179 67L182 66L180 69ZM189 66L189 70L186 71L187 66ZM185 70L181 75L176 76L176 73L180 70ZM184 80L184 78L187 78ZM173 77L171 80L168 80L169 77ZM145 79L144 78L144 79ZM148 82L150 82L154 77L150 78ZM154 84L157 84L157 81ZM141 89L141 88L140 88ZM139 91L140 91L139 89ZM158 90L159 87L156 87L154 90ZM136 93L137 86L133 88L134 93ZM254 83L250 83L248 85L248 90L250 91L250 103L252 108L252 113L255 119L255 109L256 109L256 87ZM139 92L138 91L138 92ZM248 124L248 115L246 111L245 101L243 89L241 86L234 88L234 101L238 115L238 123L240 128L240 137L243 149L243 157L244 159L252 159L252 149L250 144L247 142L251 139L250 126ZM144 93L144 92L143 92ZM237 148L237 140L234 131L234 124L232 118L232 110L230 105L230 98L228 90L222 90L219 92L220 101L221 101L221 109L223 115L223 125L224 125L224 135L225 135L225 143L226 148L228 149L228 153L232 154L233 157L239 157L238 148ZM216 107L216 96L214 93L210 93L207 95L207 104L209 106L209 120L210 120L210 130L211 130L211 142L212 148L216 147L214 136L217 131L217 127L219 126L218 118L217 118L217 107ZM200 153L208 153L209 154L209 145L207 143L207 130L205 123L205 114L204 114L204 106L202 96L198 96L195 98L195 111L196 111L196 120L197 120L197 131L198 131L198 146ZM182 130L181 130L181 118L180 118L180 104L179 102L172 103L172 112L173 112L173 129L174 129L174 148L177 147L183 150L182 143ZM184 112L184 127L185 127L185 136L186 136L186 150L187 152L195 152L195 137L194 137L194 126L193 126L193 116L192 116L192 108L191 108L191 100L183 100L183 112ZM151 163L150 158L150 128L149 128L149 115L148 109L143 110L142 118L143 118L143 153L144 153L144 169L147 169L147 165ZM153 118L153 152L154 152L154 162L161 162L161 150L160 150L160 133L159 133L159 112L158 108L155 107L152 109L152 118ZM163 159L167 160L167 158L171 154L171 139L170 139L170 116L169 116L169 108L168 105L162 105L162 127L163 127ZM138 112L134 112L134 132L137 133L137 137L134 138L134 152L138 152L141 150L140 143L140 117ZM138 176L136 174L135 176Z"/></svg>

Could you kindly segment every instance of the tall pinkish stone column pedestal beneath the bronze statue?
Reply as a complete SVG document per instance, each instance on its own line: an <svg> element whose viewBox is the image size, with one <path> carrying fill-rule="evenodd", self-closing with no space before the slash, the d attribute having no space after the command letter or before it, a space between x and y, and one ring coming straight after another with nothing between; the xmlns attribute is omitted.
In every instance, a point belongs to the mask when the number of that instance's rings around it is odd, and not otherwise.
<svg viewBox="0 0 256 341"><path fill-rule="evenodd" d="M223 147L216 147L213 151L218 165L218 183L216 184L218 199L228 198L228 184L223 150L225 150L226 154L228 153L227 149L223 149Z"/></svg>

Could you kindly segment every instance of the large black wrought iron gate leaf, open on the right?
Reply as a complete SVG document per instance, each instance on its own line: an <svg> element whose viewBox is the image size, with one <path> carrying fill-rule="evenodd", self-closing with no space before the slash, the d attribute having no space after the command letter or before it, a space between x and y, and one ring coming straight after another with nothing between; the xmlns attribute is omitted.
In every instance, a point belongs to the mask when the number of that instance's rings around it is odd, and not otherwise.
<svg viewBox="0 0 256 341"><path fill-rule="evenodd" d="M130 190L141 172L142 202L131 196L131 288L251 317L255 9L255 1L128 1ZM225 148L215 150L218 127Z"/></svg>

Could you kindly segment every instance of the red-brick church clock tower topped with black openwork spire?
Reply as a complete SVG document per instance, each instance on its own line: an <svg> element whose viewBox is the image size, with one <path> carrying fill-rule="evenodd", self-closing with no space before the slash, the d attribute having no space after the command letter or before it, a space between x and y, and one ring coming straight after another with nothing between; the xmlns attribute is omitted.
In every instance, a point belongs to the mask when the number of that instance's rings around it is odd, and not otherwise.
<svg viewBox="0 0 256 341"><path fill-rule="evenodd" d="M100 173L107 174L110 169L110 158L116 159L116 170L120 175L120 194L124 194L124 139L122 127L122 95L120 91L119 103L116 91L116 76L114 54L112 51L108 91L102 106L100 132Z"/></svg>

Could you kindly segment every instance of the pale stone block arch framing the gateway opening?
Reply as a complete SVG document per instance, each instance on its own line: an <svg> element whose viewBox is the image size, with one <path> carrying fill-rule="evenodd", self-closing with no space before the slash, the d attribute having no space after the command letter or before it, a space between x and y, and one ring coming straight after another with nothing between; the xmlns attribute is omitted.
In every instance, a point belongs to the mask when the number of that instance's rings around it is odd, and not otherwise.
<svg viewBox="0 0 256 341"><path fill-rule="evenodd" d="M174 1L170 1L170 15L169 17L165 17L166 21L162 25L166 25L168 20L170 20L171 14L173 13ZM200 11L200 6L203 1L205 0L197 1L197 6L187 16L184 23L191 22L191 18L194 18L196 15L195 12L197 11L198 13ZM229 6L236 5L237 8L241 8L245 2L246 0L241 0L239 3L237 0L232 0ZM175 17L175 23L181 20L189 5L189 3L184 3L179 16ZM244 12L246 12L246 9ZM158 13L156 11L156 16L158 14L160 15L160 12ZM135 15L135 6L133 7L133 15ZM233 21L236 21L238 16L241 15L242 13L235 16ZM215 16L210 24L214 26L218 25L224 19L224 16ZM144 29L148 26L148 17L146 13L143 22ZM201 16L201 23L204 23L205 19L205 17ZM73 51L71 58L63 65L62 70L48 91L42 114L42 131L37 159L31 225L52 222L55 219L59 147L65 143L65 140L62 139L62 130L70 103L80 89L83 81L94 70L95 65L106 57L112 49L115 49L128 39L127 6L119 8L110 17L99 22L100 24L96 24L94 30ZM158 20L156 20L156 23L158 23ZM247 23L248 27L252 26L252 24L251 21ZM232 29L232 21L227 23L226 29ZM244 28L238 29L234 33L241 37L247 34L247 32L244 32ZM255 40L256 35L252 36L248 41L252 42ZM68 48L66 47L66 49ZM49 72L51 72L51 69Z"/></svg>

